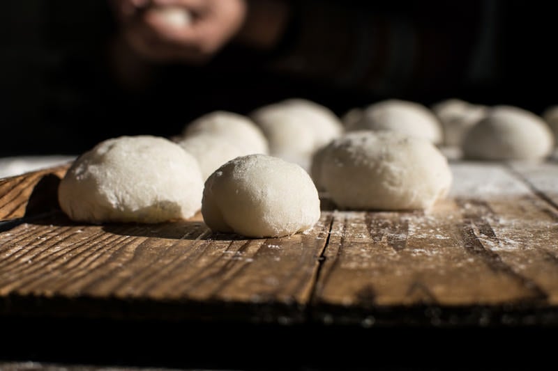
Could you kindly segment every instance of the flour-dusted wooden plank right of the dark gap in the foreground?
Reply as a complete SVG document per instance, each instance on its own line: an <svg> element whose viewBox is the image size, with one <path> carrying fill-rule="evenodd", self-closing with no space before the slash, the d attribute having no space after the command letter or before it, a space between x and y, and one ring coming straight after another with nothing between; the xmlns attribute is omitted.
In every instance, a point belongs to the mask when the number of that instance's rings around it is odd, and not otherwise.
<svg viewBox="0 0 558 371"><path fill-rule="evenodd" d="M334 214L318 320L376 324L398 313L400 321L488 324L557 306L554 207L502 164L454 163L452 171L450 197L428 214Z"/></svg>

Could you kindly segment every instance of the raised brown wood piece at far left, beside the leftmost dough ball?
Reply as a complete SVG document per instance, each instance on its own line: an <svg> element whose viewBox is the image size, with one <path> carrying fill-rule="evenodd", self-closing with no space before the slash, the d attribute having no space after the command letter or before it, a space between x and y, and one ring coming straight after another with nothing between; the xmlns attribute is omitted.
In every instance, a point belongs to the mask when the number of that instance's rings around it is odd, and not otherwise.
<svg viewBox="0 0 558 371"><path fill-rule="evenodd" d="M70 163L0 179L0 221L58 207L58 184L69 167Z"/></svg>

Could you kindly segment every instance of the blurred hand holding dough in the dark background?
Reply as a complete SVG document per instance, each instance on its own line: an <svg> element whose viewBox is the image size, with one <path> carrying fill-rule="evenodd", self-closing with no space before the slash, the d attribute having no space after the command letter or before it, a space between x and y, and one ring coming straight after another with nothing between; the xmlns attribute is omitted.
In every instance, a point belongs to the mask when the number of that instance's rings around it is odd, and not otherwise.
<svg viewBox="0 0 558 371"><path fill-rule="evenodd" d="M246 0L112 0L112 6L125 40L151 61L207 61L234 38L247 13Z"/></svg>

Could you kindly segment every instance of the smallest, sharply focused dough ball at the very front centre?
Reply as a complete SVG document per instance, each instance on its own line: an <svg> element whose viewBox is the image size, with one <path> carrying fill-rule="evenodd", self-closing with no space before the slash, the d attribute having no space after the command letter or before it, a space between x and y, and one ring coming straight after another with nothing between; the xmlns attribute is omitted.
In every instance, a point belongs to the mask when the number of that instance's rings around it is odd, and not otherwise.
<svg viewBox="0 0 558 371"><path fill-rule="evenodd" d="M206 180L202 215L214 232L282 237L314 226L319 197L301 166L248 155L227 162Z"/></svg>

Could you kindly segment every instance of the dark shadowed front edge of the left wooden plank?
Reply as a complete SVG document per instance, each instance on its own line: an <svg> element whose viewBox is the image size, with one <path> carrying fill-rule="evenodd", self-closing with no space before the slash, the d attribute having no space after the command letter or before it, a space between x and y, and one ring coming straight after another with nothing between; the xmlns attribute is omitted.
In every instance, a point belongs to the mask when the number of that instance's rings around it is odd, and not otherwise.
<svg viewBox="0 0 558 371"><path fill-rule="evenodd" d="M252 303L121 299L96 297L33 296L0 297L0 317L80 317L83 319L137 319L165 321L241 322L254 324L300 324L307 321L305 306L280 301Z"/></svg>

